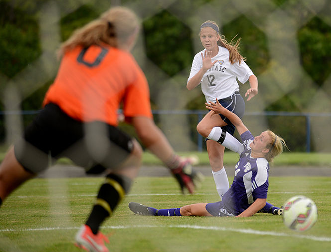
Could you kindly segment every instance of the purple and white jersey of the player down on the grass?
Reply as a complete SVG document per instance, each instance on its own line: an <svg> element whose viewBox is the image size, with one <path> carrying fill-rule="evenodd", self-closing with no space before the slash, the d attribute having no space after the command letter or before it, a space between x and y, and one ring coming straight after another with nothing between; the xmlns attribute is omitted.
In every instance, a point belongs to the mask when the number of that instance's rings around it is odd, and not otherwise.
<svg viewBox="0 0 331 252"><path fill-rule="evenodd" d="M224 193L222 205L233 215L245 211L257 198L266 199L268 193L269 164L265 158L250 156L250 143L254 136L246 131L241 135L244 151L235 166L230 189Z"/></svg>

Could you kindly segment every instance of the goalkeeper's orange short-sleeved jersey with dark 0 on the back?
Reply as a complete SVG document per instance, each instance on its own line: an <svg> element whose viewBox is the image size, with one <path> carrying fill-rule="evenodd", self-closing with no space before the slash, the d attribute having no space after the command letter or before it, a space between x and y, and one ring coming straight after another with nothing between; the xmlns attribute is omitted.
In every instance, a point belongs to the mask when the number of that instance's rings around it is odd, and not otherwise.
<svg viewBox="0 0 331 252"><path fill-rule="evenodd" d="M43 104L55 103L83 122L116 126L121 103L125 117L152 118L149 99L146 77L129 52L93 45L65 53Z"/></svg>

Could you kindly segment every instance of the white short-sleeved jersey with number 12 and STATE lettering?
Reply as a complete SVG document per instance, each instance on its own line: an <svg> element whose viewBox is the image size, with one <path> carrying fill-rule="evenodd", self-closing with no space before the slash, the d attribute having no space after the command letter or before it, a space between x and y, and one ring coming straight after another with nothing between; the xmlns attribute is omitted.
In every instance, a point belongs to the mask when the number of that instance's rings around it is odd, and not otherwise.
<svg viewBox="0 0 331 252"><path fill-rule="evenodd" d="M188 81L202 68L201 53L204 55L205 50L194 56ZM245 83L249 76L254 75L244 61L231 65L229 57L229 51L225 47L219 46L218 54L212 58L212 62L215 60L218 62L202 77L201 90L207 102L215 102L216 98L222 99L231 96L234 92L239 91L237 78L241 83Z"/></svg>

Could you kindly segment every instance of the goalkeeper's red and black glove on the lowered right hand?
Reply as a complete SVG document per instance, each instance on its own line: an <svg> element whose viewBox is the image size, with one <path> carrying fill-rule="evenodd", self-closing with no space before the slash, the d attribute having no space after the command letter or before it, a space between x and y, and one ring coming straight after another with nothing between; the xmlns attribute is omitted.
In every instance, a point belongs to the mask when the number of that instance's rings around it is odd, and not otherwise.
<svg viewBox="0 0 331 252"><path fill-rule="evenodd" d="M194 189L197 188L204 179L204 175L202 175L201 172L192 168L192 162L189 158L184 159L180 166L176 169L172 169L171 172L179 183L182 193L184 193L185 188L187 188L191 194L194 193Z"/></svg>

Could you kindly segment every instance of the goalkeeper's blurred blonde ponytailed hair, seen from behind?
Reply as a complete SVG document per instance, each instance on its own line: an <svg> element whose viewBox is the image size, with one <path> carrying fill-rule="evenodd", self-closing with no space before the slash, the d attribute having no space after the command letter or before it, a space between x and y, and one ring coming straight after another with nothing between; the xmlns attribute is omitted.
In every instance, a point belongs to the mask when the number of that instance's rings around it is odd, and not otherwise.
<svg viewBox="0 0 331 252"><path fill-rule="evenodd" d="M89 47L93 44L106 43L113 47L121 47L134 32L137 32L140 22L136 14L125 7L113 7L74 33L62 43L58 56L80 45Z"/></svg>

